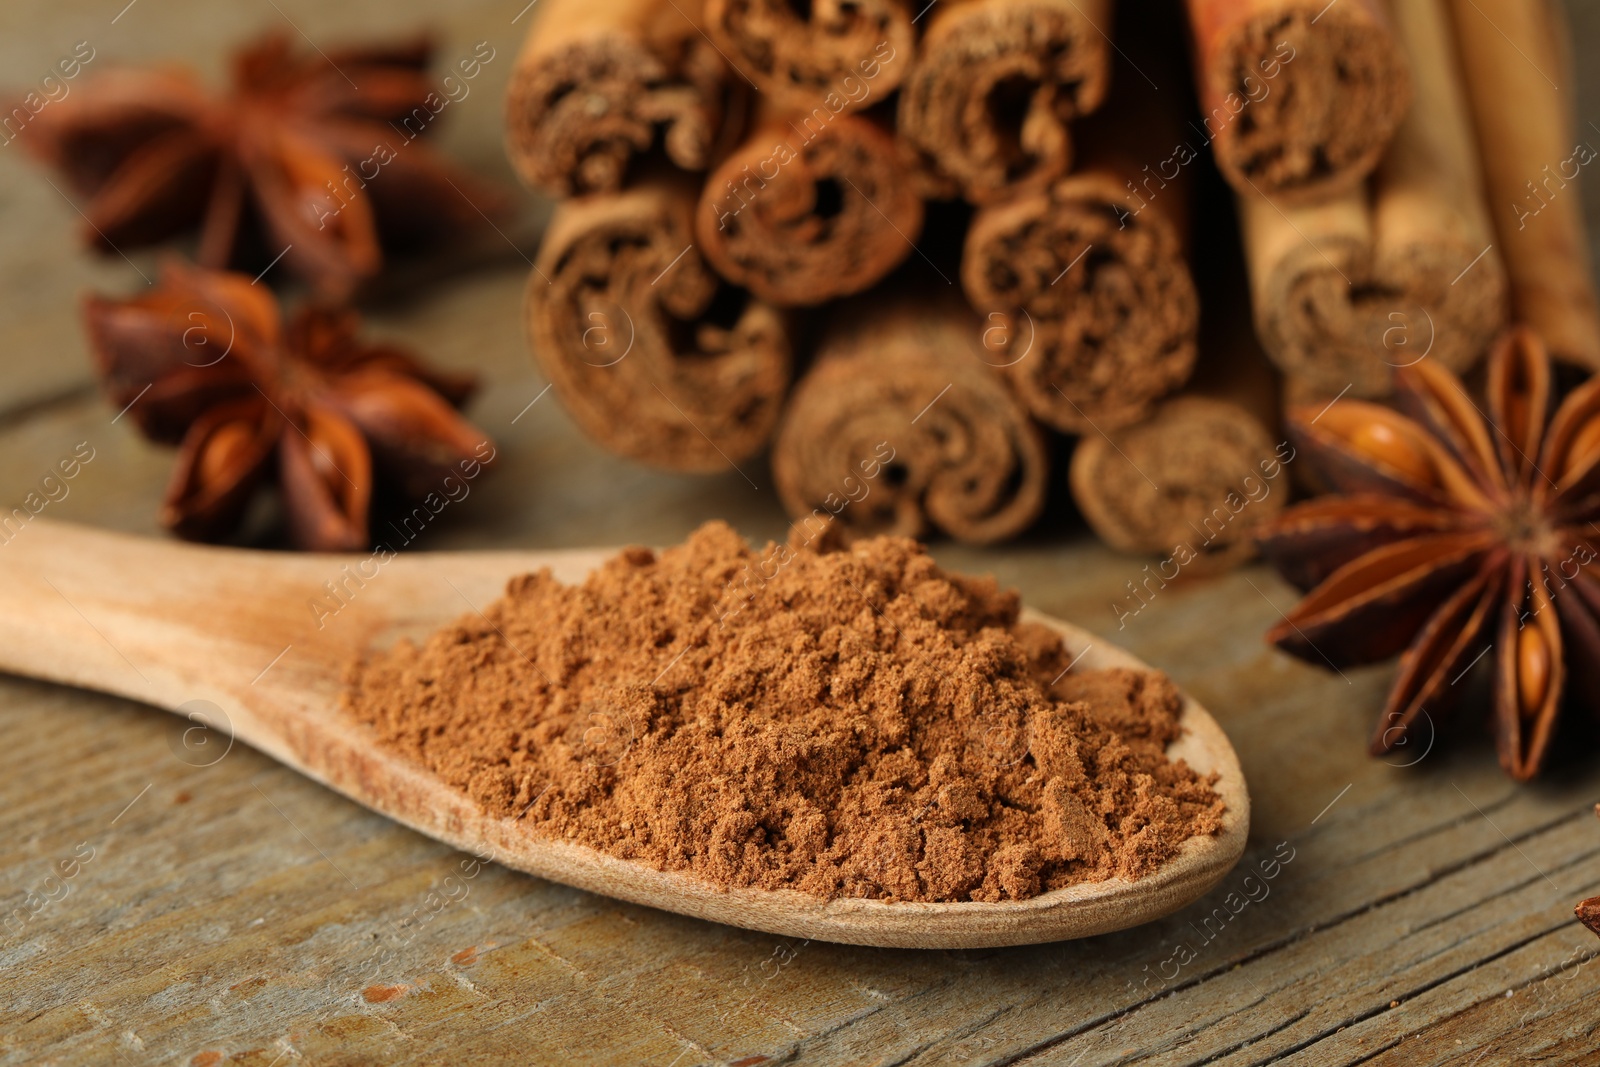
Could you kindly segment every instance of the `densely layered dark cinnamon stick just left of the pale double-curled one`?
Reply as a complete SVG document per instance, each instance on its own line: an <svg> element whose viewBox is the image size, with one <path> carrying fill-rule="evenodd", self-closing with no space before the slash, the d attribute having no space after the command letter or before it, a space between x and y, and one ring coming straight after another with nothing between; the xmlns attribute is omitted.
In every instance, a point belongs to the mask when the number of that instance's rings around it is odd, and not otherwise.
<svg viewBox="0 0 1600 1067"><path fill-rule="evenodd" d="M1200 149L1174 88L1181 40L1141 29L1112 99L1078 125L1082 170L979 208L962 258L966 296L987 317L987 362L1035 419L1067 434L1144 419L1195 360L1184 242Z"/></svg>

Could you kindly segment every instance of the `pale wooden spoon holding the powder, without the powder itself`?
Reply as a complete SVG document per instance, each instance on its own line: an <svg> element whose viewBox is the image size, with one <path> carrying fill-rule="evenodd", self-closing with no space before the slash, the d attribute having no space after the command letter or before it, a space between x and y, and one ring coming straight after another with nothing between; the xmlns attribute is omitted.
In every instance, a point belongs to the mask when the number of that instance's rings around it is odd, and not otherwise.
<svg viewBox="0 0 1600 1067"><path fill-rule="evenodd" d="M0 545L0 669L189 715L197 726L186 737L192 734L197 752L221 758L237 737L419 833L491 854L507 867L794 937L907 949L1086 937L1182 907L1216 885L1245 849L1250 798L1238 758L1216 721L1189 697L1184 736L1170 753L1218 774L1216 790L1227 805L1222 830L1186 841L1147 878L1112 878L1005 904L824 901L795 891L722 889L536 837L523 822L483 814L339 710L341 675L350 659L400 637L421 640L478 611L514 574L547 566L555 577L578 582L608 555L594 549L288 555L34 520ZM1085 667L1144 665L1077 627L1032 617L1059 630ZM200 744L216 747L202 750Z"/></svg>

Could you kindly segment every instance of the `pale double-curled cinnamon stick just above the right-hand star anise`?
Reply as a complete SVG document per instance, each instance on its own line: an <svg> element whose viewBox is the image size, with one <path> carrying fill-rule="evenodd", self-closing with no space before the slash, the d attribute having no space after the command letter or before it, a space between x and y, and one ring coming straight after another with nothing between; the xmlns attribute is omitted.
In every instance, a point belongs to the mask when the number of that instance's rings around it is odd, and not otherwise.
<svg viewBox="0 0 1600 1067"><path fill-rule="evenodd" d="M1299 397L1382 397L1421 358L1469 368L1506 323L1506 267L1440 0L1395 6L1416 102L1373 176L1315 206L1242 195L1256 328Z"/></svg>

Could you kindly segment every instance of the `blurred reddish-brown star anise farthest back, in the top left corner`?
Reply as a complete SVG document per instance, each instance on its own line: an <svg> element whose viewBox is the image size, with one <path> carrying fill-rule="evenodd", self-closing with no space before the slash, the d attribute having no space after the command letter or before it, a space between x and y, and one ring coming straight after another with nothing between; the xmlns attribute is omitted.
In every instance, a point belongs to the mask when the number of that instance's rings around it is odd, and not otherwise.
<svg viewBox="0 0 1600 1067"><path fill-rule="evenodd" d="M78 194L102 251L198 227L211 269L282 262L341 299L384 245L477 226L501 194L422 141L443 110L430 45L294 54L262 37L234 56L232 90L182 69L106 72L42 110L24 144ZM482 208L482 211L480 211Z"/></svg>

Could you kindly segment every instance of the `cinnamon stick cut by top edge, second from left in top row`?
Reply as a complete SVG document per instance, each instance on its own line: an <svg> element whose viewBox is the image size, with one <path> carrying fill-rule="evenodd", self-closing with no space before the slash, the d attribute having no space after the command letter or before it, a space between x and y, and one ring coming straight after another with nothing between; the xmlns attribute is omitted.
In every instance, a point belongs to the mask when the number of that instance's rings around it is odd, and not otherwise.
<svg viewBox="0 0 1600 1067"><path fill-rule="evenodd" d="M706 0L706 30L744 80L802 112L877 102L915 48L906 0Z"/></svg>

